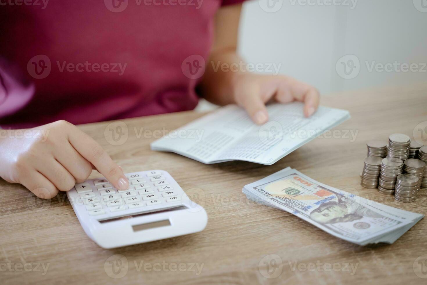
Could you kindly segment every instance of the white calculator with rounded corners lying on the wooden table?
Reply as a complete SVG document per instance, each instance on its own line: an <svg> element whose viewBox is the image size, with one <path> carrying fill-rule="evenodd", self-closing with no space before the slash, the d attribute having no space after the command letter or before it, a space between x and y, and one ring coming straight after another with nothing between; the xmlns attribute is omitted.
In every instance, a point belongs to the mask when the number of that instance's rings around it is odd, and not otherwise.
<svg viewBox="0 0 427 285"><path fill-rule="evenodd" d="M202 231L208 215L164 170L127 173L129 189L91 179L67 192L86 234L100 247L140 244Z"/></svg>

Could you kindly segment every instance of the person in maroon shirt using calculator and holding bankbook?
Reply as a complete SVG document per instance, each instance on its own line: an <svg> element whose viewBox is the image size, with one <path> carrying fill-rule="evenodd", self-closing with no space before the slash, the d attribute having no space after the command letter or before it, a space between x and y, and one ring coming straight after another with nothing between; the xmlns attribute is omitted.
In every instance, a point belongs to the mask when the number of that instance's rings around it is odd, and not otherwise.
<svg viewBox="0 0 427 285"><path fill-rule="evenodd" d="M0 176L51 198L94 168L126 190L123 170L74 124L191 110L199 96L237 103L257 124L269 100L304 101L312 115L319 93L305 83L217 68L241 62L241 1L2 4L0 126L36 135L1 136Z"/></svg>

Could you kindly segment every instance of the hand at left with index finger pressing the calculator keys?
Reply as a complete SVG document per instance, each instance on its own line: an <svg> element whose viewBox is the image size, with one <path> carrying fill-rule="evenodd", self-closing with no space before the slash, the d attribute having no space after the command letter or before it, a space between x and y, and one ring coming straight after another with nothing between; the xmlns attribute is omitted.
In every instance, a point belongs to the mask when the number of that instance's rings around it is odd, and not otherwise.
<svg viewBox="0 0 427 285"><path fill-rule="evenodd" d="M117 189L129 188L123 170L73 124L60 120L29 130L0 135L0 176L6 181L49 199L84 182L95 168Z"/></svg>

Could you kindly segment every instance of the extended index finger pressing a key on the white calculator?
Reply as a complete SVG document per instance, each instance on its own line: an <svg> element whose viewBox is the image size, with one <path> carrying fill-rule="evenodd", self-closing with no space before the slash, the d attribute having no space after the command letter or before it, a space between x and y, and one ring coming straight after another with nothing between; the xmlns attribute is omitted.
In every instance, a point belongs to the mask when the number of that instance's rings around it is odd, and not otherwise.
<svg viewBox="0 0 427 285"><path fill-rule="evenodd" d="M91 162L115 188L119 190L129 188L129 181L123 170L93 138L76 127L68 133L68 140L74 149Z"/></svg>

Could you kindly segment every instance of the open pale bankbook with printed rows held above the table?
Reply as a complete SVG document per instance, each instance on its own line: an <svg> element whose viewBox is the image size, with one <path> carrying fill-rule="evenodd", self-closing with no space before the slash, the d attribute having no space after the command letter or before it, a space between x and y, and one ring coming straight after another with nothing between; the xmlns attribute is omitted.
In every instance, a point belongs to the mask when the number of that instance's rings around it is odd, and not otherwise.
<svg viewBox="0 0 427 285"><path fill-rule="evenodd" d="M300 102L271 104L267 106L269 122L258 126L245 110L228 105L152 142L151 149L206 164L243 160L272 165L350 118L348 111L322 106L305 118L303 107Z"/></svg>

